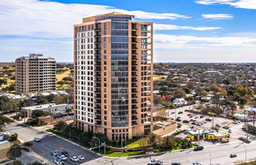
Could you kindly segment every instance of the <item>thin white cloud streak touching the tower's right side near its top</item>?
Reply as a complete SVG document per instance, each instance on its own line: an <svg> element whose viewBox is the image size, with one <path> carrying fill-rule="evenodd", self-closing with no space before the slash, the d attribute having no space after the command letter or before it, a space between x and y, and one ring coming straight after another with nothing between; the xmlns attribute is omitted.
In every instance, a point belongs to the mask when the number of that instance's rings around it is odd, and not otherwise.
<svg viewBox="0 0 256 165"><path fill-rule="evenodd" d="M164 25L154 24L154 30L195 30L195 31L206 31L206 30L217 30L221 27L193 27L193 26L175 26L175 25Z"/></svg>

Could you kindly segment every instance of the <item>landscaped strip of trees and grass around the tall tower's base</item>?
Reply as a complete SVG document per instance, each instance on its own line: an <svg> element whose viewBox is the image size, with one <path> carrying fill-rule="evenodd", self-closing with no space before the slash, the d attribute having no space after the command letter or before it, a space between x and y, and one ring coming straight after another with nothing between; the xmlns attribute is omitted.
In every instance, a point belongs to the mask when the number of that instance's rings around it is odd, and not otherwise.
<svg viewBox="0 0 256 165"><path fill-rule="evenodd" d="M161 137L155 133L151 133L149 136L140 139L110 142L104 133L83 132L78 130L74 124L66 124L64 121L59 121L54 125L53 129L46 131L68 140L71 139L72 142L90 148L90 150L95 152L99 151L98 139L100 139L101 143L105 142L106 144L105 153L104 145L101 145L100 154L105 154L107 157L128 157L146 154L146 152L159 153L194 147L189 139L182 139L176 136Z"/></svg>

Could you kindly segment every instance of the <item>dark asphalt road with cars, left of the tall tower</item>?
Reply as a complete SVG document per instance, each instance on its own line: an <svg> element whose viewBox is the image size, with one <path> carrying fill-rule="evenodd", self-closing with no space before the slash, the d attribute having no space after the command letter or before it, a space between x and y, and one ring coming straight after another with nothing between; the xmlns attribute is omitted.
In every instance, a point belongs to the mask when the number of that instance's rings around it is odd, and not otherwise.
<svg viewBox="0 0 256 165"><path fill-rule="evenodd" d="M61 151L68 151L70 156L83 155L85 157L85 160L80 160L80 162L73 162L68 157L65 164L80 164L100 157L98 154L95 154L92 151L87 151L86 149L81 148L79 145L75 145L51 133L46 133L41 130L36 130L33 127L20 124L17 121L14 121L14 123L8 125L7 129L10 133L17 133L21 142L31 142L32 150L41 155L41 157L44 157L47 162L53 161L53 155L50 154L50 151L52 150L57 150L58 154ZM41 142L35 142L35 137L40 137Z"/></svg>

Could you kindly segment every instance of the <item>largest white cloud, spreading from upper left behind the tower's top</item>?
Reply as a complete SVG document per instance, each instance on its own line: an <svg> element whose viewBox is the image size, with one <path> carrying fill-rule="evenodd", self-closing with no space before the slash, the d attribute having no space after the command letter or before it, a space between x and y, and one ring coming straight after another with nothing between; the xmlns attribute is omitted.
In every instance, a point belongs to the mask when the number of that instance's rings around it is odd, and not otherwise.
<svg viewBox="0 0 256 165"><path fill-rule="evenodd" d="M128 11L106 5L62 4L56 1L1 0L0 35L73 37L74 24L83 17L102 13L134 14L138 19L176 20L189 17L178 13Z"/></svg>

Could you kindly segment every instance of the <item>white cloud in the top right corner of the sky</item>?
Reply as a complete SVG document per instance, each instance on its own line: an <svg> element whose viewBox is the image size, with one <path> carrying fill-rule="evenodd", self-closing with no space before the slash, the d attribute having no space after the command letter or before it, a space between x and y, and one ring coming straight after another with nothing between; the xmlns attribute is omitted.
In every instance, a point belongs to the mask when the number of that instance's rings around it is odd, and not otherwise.
<svg viewBox="0 0 256 165"><path fill-rule="evenodd" d="M256 1L255 0L197 0L197 4L201 5L230 5L236 8L245 8L245 9L254 9L256 10Z"/></svg>

